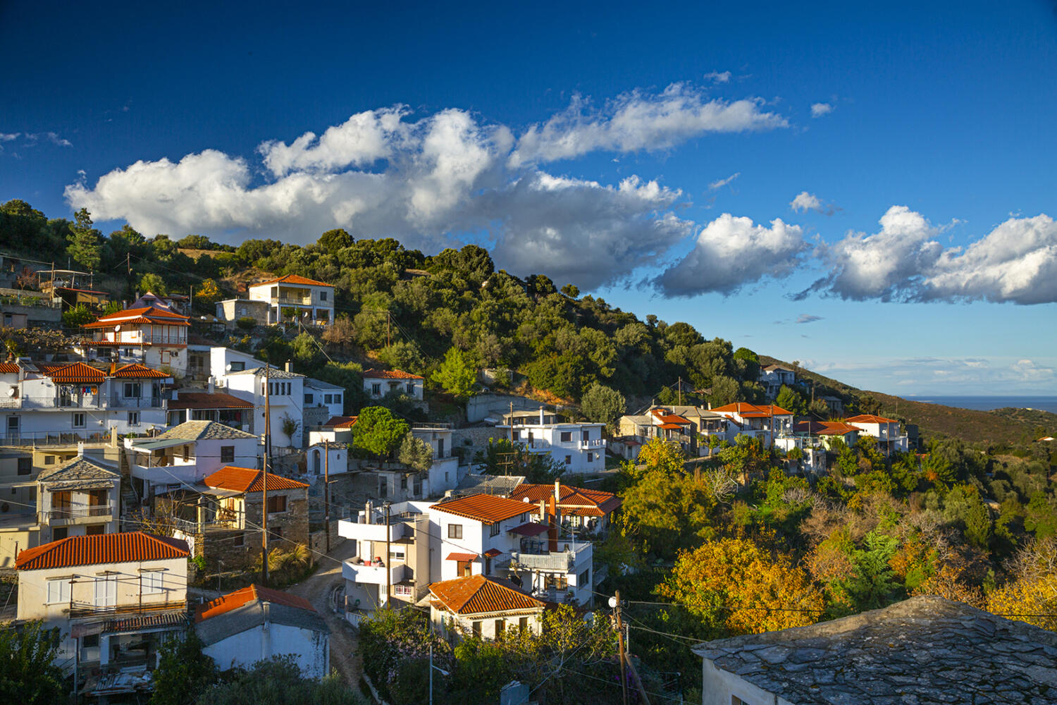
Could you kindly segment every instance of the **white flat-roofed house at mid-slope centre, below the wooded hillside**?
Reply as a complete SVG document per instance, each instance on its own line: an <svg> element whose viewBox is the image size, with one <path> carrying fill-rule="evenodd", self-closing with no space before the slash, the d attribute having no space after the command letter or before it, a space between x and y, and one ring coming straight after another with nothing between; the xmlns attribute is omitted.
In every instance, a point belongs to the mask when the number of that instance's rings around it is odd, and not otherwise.
<svg viewBox="0 0 1057 705"><path fill-rule="evenodd" d="M552 460L565 466L565 475L593 475L606 469L606 440L602 432L606 424L590 423L545 423L543 410L538 412L537 423L519 420L509 426L496 426L502 434L513 435L515 443L524 445L530 452L550 453Z"/></svg>

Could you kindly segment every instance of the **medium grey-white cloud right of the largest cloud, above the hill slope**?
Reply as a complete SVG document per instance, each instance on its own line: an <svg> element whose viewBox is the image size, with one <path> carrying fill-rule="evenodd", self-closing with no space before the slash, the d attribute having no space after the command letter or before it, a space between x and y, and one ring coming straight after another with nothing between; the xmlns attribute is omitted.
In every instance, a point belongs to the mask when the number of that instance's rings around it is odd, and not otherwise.
<svg viewBox="0 0 1057 705"><path fill-rule="evenodd" d="M729 295L764 277L785 276L805 249L799 225L775 219L767 227L723 214L702 228L693 249L654 284L667 296Z"/></svg>

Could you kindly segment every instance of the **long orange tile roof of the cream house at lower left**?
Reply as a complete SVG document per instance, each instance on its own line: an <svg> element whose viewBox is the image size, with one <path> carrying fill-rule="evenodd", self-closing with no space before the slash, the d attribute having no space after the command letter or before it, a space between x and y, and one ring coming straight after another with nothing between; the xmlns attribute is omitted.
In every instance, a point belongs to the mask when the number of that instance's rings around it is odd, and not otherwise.
<svg viewBox="0 0 1057 705"><path fill-rule="evenodd" d="M186 558L187 542L144 532L70 536L26 549L18 554L15 568L34 571L95 563L124 563L138 560Z"/></svg>

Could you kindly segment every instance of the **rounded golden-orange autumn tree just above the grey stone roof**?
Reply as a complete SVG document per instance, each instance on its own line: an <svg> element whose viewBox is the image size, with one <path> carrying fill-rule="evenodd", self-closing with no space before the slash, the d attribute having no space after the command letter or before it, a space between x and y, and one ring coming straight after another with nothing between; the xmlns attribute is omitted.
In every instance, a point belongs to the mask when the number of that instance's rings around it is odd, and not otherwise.
<svg viewBox="0 0 1057 705"><path fill-rule="evenodd" d="M741 538L683 552L657 591L727 634L803 627L823 606L822 592L787 556Z"/></svg>

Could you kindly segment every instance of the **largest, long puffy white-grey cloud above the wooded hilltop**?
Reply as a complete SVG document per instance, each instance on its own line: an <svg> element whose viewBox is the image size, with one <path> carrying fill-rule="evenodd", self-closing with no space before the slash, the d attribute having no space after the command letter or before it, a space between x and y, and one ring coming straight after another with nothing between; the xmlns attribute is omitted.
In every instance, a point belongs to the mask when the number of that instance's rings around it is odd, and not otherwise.
<svg viewBox="0 0 1057 705"><path fill-rule="evenodd" d="M629 178L618 185L509 166L515 138L462 110L418 120L395 106L316 135L268 141L264 167L217 150L140 161L66 189L74 208L144 233L219 239L315 240L345 227L435 251L484 236L497 262L593 289L648 265L691 233L678 189ZM472 237L471 237L472 236ZM455 242L453 242L455 241Z"/></svg>

